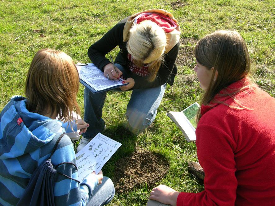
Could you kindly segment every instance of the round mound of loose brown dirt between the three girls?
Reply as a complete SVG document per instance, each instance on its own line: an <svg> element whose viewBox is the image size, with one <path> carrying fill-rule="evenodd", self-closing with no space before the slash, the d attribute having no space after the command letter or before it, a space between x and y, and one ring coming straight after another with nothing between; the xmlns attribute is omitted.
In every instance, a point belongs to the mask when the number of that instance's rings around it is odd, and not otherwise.
<svg viewBox="0 0 275 206"><path fill-rule="evenodd" d="M145 183L151 188L165 177L168 170L168 162L159 154L136 148L130 156L115 163L115 190L125 193Z"/></svg>

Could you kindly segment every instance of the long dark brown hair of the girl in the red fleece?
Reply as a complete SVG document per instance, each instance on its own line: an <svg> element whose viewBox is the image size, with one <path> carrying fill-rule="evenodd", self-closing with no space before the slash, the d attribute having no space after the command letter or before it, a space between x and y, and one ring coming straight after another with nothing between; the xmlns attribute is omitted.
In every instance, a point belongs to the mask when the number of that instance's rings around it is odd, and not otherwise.
<svg viewBox="0 0 275 206"><path fill-rule="evenodd" d="M219 30L206 35L197 42L194 54L199 64L208 69L214 67L210 84L202 97L201 105L209 105L216 94L222 89L227 88L230 84L244 78L250 70L250 56L246 43L236 31ZM216 70L218 71L218 75L214 79ZM250 85L238 90L231 90L224 94L233 98L239 105L239 107L231 107L238 109L245 108L237 101L235 96L246 87L250 87ZM199 110L197 123L200 118L201 112Z"/></svg>

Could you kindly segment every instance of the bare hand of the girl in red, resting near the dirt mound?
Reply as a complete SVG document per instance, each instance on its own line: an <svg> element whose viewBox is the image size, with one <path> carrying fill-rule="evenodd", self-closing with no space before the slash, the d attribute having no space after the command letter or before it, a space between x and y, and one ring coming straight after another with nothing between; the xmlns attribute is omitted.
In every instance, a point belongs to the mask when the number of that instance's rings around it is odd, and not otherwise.
<svg viewBox="0 0 275 206"><path fill-rule="evenodd" d="M159 185L150 193L149 199L154 199L163 204L176 206L179 192L166 185Z"/></svg>

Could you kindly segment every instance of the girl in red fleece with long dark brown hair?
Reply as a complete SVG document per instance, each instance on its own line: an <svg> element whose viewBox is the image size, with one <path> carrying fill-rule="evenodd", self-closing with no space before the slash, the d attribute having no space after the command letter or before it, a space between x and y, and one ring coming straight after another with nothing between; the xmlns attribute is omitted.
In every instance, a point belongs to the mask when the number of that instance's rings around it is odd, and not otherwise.
<svg viewBox="0 0 275 206"><path fill-rule="evenodd" d="M196 146L205 190L165 185L150 199L171 205L275 205L275 100L250 83L248 49L240 34L216 31L196 45L200 87Z"/></svg>

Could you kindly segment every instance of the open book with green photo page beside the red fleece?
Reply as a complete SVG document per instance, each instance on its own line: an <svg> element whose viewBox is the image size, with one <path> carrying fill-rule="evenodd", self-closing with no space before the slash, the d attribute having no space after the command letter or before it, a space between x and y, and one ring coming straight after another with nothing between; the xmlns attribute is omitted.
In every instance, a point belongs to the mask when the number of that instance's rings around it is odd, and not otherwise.
<svg viewBox="0 0 275 206"><path fill-rule="evenodd" d="M196 141L196 115L199 107L200 105L195 102L181 112L170 111L167 113L167 116L170 117L170 119L172 119L183 132L184 137L188 142Z"/></svg>

